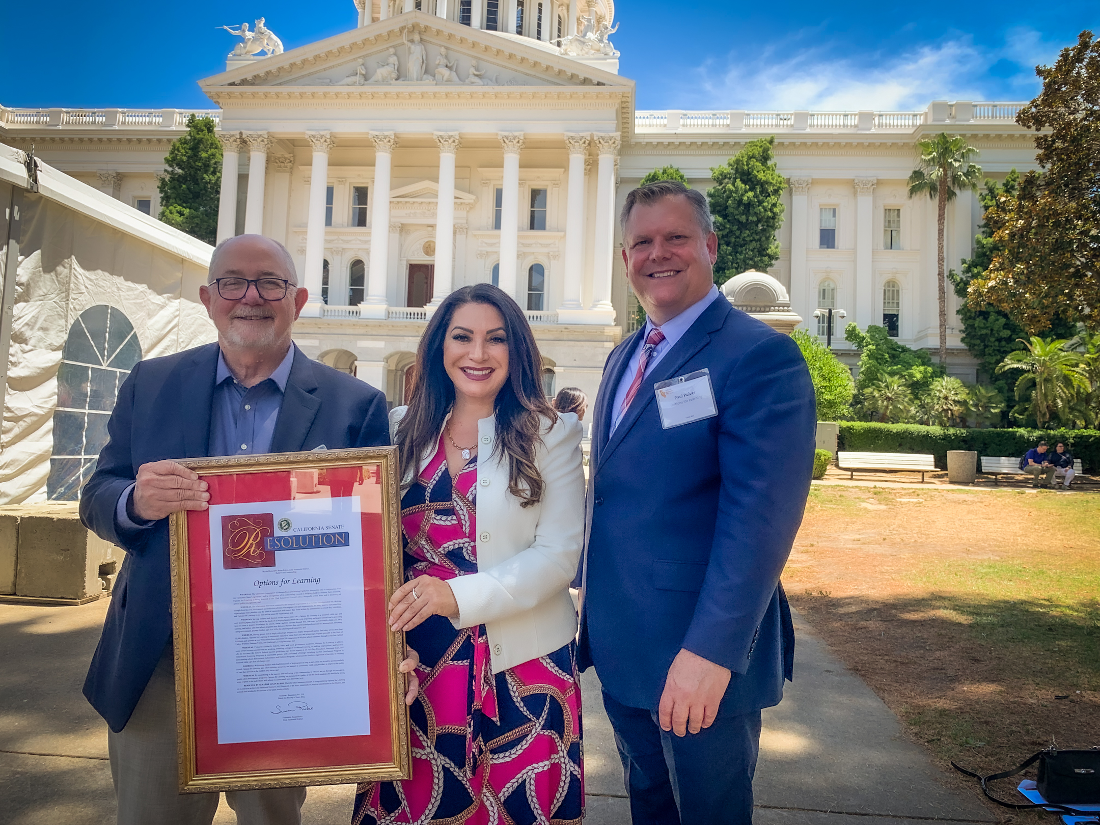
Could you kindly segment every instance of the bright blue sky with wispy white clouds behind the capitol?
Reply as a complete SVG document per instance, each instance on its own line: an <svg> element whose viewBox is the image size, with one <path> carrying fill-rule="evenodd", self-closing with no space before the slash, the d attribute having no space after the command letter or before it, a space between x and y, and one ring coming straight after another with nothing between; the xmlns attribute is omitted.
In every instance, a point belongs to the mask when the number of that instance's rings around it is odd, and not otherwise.
<svg viewBox="0 0 1100 825"><path fill-rule="evenodd" d="M619 0L612 38L639 109L916 110L932 99L1026 100L1036 64L1082 29L1094 1ZM48 15L0 3L0 103L207 108L196 80L224 68L217 29L261 14L294 48L355 24L352 0L57 0ZM43 36L45 31L48 36Z"/></svg>

